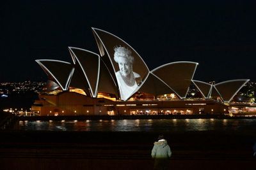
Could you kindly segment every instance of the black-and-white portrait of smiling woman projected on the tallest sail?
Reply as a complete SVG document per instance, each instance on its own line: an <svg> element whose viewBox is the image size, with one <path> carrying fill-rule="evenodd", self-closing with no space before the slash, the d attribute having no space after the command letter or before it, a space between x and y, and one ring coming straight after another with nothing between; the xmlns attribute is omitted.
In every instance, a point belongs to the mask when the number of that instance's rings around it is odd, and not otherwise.
<svg viewBox="0 0 256 170"><path fill-rule="evenodd" d="M123 46L114 48L114 60L118 64L119 71L116 71L121 99L127 100L141 83L141 76L132 71L134 57L129 49Z"/></svg>

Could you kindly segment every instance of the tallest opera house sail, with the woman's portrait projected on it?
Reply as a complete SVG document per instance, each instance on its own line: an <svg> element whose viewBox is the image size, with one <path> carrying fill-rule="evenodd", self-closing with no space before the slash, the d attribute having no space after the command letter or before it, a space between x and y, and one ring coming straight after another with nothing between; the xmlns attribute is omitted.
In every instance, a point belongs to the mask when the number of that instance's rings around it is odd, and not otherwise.
<svg viewBox="0 0 256 170"><path fill-rule="evenodd" d="M106 52L100 53L102 57L108 55L105 60L111 63L112 68L109 70L115 75L120 99L127 101L147 79L148 67L140 55L122 39L100 29L93 28L93 33L100 51Z"/></svg>

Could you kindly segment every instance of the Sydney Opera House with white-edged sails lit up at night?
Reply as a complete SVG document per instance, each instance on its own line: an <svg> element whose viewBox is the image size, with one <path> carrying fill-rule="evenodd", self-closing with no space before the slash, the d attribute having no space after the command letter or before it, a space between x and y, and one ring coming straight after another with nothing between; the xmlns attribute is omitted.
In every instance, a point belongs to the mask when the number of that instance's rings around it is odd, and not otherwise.
<svg viewBox="0 0 256 170"><path fill-rule="evenodd" d="M100 29L92 31L99 54L68 47L72 63L36 60L49 80L32 111L39 115L224 114L249 81L210 84L194 80L198 63L188 61L150 71L125 41ZM187 97L191 84L201 97Z"/></svg>

